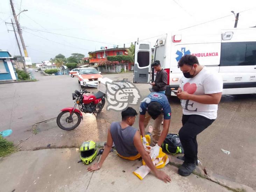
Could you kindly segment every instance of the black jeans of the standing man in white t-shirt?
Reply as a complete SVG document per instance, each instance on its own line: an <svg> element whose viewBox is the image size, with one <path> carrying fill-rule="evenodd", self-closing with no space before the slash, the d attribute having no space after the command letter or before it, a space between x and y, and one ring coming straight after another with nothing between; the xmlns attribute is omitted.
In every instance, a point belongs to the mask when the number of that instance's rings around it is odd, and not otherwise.
<svg viewBox="0 0 256 192"><path fill-rule="evenodd" d="M183 126L179 130L179 138L187 163L197 161L197 135L211 125L214 120L201 115L182 116Z"/></svg>

